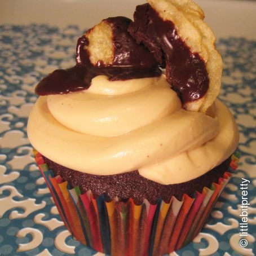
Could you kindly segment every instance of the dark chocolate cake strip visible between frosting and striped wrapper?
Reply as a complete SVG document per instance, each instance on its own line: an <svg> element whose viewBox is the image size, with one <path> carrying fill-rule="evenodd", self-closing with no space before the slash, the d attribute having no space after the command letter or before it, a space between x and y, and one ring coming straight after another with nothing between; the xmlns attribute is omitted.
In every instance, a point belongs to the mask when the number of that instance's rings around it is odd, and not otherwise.
<svg viewBox="0 0 256 256"><path fill-rule="evenodd" d="M144 198L151 204L156 204L159 198L165 202L169 202L172 196L182 200L184 193L192 197L195 191L202 192L204 187L210 188L213 182L218 182L218 179L228 170L231 162L231 157L229 157L208 173L189 182L163 185L140 176L138 171L100 176L75 171L56 164L46 157L43 158L55 176L60 175L72 187L79 186L82 193L90 189L94 198L104 194L106 201L111 201L114 197L122 201L133 198L136 205L142 204Z"/></svg>

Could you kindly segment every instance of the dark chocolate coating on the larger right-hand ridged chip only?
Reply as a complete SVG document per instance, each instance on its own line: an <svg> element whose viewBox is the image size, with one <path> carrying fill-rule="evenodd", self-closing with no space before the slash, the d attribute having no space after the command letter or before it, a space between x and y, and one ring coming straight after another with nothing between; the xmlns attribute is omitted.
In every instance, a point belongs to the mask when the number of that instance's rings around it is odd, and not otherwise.
<svg viewBox="0 0 256 256"><path fill-rule="evenodd" d="M136 7L129 32L137 43L149 48L162 67L166 67L167 81L180 94L182 103L200 99L206 94L209 78L204 60L191 52L171 21L163 20L146 3Z"/></svg>

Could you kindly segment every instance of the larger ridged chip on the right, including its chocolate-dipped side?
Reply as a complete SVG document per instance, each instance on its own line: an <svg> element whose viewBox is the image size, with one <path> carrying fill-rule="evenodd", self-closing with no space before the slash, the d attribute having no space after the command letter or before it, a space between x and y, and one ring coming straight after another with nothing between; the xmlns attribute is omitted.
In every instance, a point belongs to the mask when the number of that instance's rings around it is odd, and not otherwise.
<svg viewBox="0 0 256 256"><path fill-rule="evenodd" d="M129 32L166 68L183 107L206 112L220 89L222 59L204 12L188 0L148 0L136 7Z"/></svg>

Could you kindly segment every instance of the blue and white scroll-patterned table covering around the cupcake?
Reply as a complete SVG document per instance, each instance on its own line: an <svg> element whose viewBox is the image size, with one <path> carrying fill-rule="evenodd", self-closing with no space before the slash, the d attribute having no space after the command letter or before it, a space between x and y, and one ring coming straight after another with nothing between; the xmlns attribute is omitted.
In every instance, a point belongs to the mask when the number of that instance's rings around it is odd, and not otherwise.
<svg viewBox="0 0 256 256"><path fill-rule="evenodd" d="M95 255L61 222L34 162L26 127L43 76L74 65L77 27L0 26L0 255ZM240 164L196 239L171 255L254 255L256 252L256 41L218 41L223 56L219 95L240 129ZM242 178L249 180L248 245L239 245ZM102 255L102 254L97 254Z"/></svg>

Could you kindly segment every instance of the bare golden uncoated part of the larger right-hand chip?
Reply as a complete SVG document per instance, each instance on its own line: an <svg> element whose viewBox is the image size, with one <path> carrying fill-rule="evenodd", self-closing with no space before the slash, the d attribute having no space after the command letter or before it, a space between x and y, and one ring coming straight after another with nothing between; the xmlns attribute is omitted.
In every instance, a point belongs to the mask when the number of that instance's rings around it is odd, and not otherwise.
<svg viewBox="0 0 256 256"><path fill-rule="evenodd" d="M215 48L214 34L203 21L204 12L190 0L148 0L148 3L163 20L174 23L182 41L204 60L209 89L201 99L190 101L185 107L189 111L206 112L219 94L223 64Z"/></svg>

